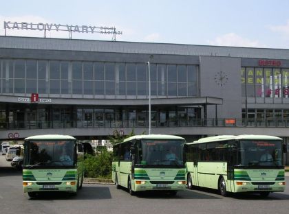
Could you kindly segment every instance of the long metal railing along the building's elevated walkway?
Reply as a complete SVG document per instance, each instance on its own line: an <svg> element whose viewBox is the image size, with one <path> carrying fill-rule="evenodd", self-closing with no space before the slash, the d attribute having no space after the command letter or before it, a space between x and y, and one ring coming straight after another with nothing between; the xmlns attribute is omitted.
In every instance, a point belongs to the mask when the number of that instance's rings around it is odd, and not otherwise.
<svg viewBox="0 0 289 214"><path fill-rule="evenodd" d="M151 121L151 127L289 127L289 119L178 119ZM146 120L122 121L13 121L1 122L0 130L45 128L148 128Z"/></svg>

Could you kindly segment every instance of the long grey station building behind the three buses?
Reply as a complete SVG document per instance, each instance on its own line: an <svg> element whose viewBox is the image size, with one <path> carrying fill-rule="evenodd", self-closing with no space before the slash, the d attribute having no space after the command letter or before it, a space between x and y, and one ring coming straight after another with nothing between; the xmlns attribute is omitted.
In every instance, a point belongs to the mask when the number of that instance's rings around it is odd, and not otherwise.
<svg viewBox="0 0 289 214"><path fill-rule="evenodd" d="M153 133L288 141L289 50L9 36L0 36L0 139L148 132L149 85Z"/></svg>

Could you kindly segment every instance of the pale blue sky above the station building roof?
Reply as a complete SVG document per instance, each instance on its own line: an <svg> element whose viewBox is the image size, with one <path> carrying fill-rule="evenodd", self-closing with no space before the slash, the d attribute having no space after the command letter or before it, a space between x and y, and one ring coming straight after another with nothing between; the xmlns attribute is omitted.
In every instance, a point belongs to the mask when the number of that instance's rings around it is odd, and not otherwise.
<svg viewBox="0 0 289 214"><path fill-rule="evenodd" d="M117 41L289 49L288 0L10 0L4 21L81 27L116 27ZM43 31L6 29L7 36L43 37ZM49 31L47 38L69 38ZM112 40L107 34L72 32L72 39Z"/></svg>

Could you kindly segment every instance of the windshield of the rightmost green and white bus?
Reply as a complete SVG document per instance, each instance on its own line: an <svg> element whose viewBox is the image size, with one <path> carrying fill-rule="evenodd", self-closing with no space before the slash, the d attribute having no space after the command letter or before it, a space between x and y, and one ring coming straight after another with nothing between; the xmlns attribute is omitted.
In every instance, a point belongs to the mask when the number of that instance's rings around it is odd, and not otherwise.
<svg viewBox="0 0 289 214"><path fill-rule="evenodd" d="M281 141L244 140L240 142L239 164L243 166L282 166Z"/></svg>

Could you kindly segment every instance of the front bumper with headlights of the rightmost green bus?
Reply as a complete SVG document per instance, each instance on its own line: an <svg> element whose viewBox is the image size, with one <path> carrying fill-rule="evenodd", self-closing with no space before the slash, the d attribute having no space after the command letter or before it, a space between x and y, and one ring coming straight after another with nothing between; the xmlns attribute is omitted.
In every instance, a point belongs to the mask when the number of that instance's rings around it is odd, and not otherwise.
<svg viewBox="0 0 289 214"><path fill-rule="evenodd" d="M244 182L235 181L235 192L283 192L285 191L285 181L274 182Z"/></svg>

